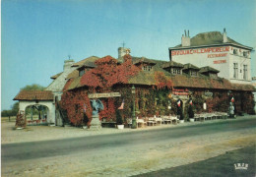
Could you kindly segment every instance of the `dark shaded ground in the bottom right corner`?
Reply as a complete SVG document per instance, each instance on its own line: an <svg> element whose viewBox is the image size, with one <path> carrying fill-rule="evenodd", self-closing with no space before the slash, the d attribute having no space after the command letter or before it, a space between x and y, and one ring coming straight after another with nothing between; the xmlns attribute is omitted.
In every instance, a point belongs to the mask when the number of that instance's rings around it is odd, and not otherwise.
<svg viewBox="0 0 256 177"><path fill-rule="evenodd" d="M256 175L256 145L226 151L225 154L207 160L182 165L173 168L166 168L137 175L138 177L162 177L162 176L190 176L190 177L254 177ZM234 164L248 164L247 169L234 169Z"/></svg>

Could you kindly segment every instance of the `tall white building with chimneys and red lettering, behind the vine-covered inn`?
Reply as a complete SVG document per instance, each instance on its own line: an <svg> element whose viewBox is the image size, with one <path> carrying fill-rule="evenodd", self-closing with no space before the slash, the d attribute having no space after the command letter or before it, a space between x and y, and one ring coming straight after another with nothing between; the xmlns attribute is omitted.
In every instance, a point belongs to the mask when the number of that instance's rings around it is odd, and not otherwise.
<svg viewBox="0 0 256 177"><path fill-rule="evenodd" d="M226 35L226 31L199 33L190 38L189 30L181 37L181 44L169 48L170 61L210 66L220 71L219 77L231 83L251 83L252 47L240 44Z"/></svg>

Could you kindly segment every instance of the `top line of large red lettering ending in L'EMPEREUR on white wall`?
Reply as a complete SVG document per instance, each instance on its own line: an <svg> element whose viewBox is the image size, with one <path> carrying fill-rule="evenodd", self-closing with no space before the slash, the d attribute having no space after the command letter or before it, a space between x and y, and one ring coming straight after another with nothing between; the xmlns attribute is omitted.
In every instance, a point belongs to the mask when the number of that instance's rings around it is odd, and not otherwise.
<svg viewBox="0 0 256 177"><path fill-rule="evenodd" d="M171 56L189 55L189 54L194 54L194 53L215 53L215 52L226 52L226 51L229 51L229 46L197 48L197 49L187 49L187 50L172 50Z"/></svg>

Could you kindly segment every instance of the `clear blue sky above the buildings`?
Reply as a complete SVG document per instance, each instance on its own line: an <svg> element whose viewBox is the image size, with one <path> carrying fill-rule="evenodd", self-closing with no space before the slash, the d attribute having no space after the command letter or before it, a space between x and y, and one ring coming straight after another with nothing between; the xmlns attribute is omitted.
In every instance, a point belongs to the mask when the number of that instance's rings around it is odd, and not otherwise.
<svg viewBox="0 0 256 177"><path fill-rule="evenodd" d="M166 61L184 29L194 36L225 28L256 47L255 0L2 0L1 8L2 110L21 88L47 87L68 55L117 57L123 41L133 56Z"/></svg>

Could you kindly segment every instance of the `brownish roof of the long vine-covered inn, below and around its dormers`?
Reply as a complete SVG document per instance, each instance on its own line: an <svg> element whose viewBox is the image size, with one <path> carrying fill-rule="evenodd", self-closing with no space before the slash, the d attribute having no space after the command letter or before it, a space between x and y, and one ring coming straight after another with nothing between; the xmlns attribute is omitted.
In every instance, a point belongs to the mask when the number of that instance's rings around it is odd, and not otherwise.
<svg viewBox="0 0 256 177"><path fill-rule="evenodd" d="M132 57L133 63L138 63L142 58L141 57ZM169 72L165 71L162 66L170 66L175 65L173 62L155 60L155 59L148 59L151 62L156 63L154 66L154 71L152 72L144 72L140 71L136 76L133 76L129 79L128 84L131 85L145 85L145 86L155 86L156 79L155 74L156 72L162 72L165 77L170 78L174 88L196 88L196 89L234 89L234 90L254 90L254 87L251 85L234 85L231 84L229 81L218 78L218 79L211 79L207 76L199 74L198 77L191 77L185 73L182 75L171 75ZM177 66L181 66L177 64ZM198 67L192 64L184 65L186 69L196 69L200 70ZM201 68L202 69L202 68ZM205 71L215 71L218 70L211 68L211 67L204 67ZM81 77L78 76L73 79L72 83L68 87L68 89L77 89L82 87L80 84Z"/></svg>

